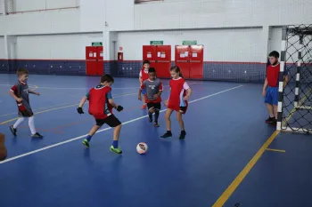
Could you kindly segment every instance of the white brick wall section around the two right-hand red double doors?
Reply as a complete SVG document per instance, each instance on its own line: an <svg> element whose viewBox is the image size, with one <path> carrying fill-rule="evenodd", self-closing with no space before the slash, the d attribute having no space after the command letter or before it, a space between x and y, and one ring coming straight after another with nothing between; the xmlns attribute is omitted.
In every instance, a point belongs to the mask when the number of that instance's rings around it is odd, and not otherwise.
<svg viewBox="0 0 312 207"><path fill-rule="evenodd" d="M142 45L163 40L172 46L171 58L175 60L175 45L183 40L197 40L204 45L205 61L260 62L264 57L261 32L262 28L122 32L118 35L118 47L124 49L124 60L142 60Z"/></svg>

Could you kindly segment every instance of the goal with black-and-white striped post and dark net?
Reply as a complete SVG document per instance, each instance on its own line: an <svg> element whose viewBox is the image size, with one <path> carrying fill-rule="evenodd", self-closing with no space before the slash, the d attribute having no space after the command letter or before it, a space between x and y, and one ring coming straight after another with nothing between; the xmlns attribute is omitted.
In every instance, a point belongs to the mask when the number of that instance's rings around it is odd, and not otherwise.
<svg viewBox="0 0 312 207"><path fill-rule="evenodd" d="M312 25L283 27L280 64L276 130L312 133Z"/></svg>

